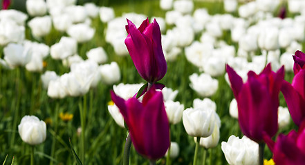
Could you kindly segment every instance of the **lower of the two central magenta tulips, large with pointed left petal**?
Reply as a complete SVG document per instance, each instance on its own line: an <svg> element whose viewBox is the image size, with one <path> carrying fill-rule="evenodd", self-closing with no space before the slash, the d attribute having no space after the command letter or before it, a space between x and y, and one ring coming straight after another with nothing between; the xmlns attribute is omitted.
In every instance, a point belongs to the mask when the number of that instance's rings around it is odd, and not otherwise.
<svg viewBox="0 0 305 165"><path fill-rule="evenodd" d="M151 160L163 157L169 148L169 121L162 92L153 86L142 102L136 98L123 100L113 91L111 98L123 115L136 151Z"/></svg>

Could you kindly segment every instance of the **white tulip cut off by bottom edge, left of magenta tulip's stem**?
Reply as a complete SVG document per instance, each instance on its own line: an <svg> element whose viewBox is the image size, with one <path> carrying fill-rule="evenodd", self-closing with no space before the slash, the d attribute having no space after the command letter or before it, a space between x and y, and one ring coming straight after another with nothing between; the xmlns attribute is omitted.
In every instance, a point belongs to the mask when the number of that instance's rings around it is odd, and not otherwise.
<svg viewBox="0 0 305 165"><path fill-rule="evenodd" d="M231 135L228 142L221 142L221 150L230 165L259 164L259 144L243 136L241 139Z"/></svg>

